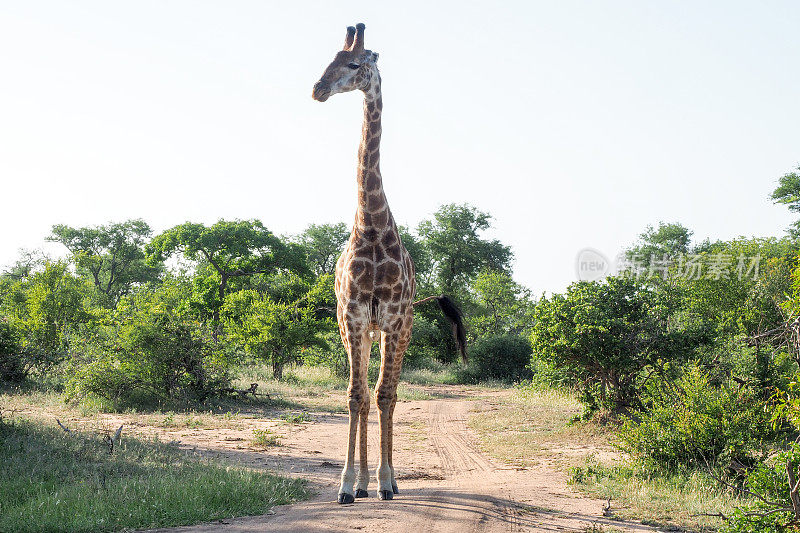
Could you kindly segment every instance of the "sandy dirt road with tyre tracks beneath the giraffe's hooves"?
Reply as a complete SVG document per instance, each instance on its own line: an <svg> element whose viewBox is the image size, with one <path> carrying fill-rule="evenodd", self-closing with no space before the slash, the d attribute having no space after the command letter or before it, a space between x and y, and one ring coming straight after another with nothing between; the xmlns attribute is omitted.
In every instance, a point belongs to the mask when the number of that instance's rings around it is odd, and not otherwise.
<svg viewBox="0 0 800 533"><path fill-rule="evenodd" d="M232 449L230 443L241 439L229 432L216 432L215 438L202 442L182 440L251 467L304 477L315 492L310 500L278 507L269 515L158 531L655 531L603 517L602 501L572 493L565 476L548 466L518 469L489 459L466 423L475 416L474 391L451 387L440 393L447 398L397 405L394 457L400 494L392 501L378 500L373 480L369 498L336 504L347 417L320 414L293 429L282 446L266 451ZM371 420L372 470L377 434L377 422Z"/></svg>

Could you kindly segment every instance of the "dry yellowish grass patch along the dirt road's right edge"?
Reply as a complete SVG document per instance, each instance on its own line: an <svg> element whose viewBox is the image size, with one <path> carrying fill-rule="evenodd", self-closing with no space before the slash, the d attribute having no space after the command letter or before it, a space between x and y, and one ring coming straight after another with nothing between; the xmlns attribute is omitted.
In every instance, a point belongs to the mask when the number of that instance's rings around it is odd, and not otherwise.
<svg viewBox="0 0 800 533"><path fill-rule="evenodd" d="M567 392L519 387L488 400L469 425L493 457L517 466L552 461L569 473L574 489L611 498L619 518L668 530L716 531L722 520L708 515L730 516L747 503L699 471L654 473L632 466L610 443L618 428L576 421L582 410Z"/></svg>

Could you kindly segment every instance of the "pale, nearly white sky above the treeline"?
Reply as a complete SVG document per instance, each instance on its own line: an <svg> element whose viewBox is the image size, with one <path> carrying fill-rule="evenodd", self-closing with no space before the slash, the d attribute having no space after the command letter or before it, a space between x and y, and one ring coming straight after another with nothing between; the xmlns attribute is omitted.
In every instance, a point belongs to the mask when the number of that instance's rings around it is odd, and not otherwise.
<svg viewBox="0 0 800 533"><path fill-rule="evenodd" d="M361 95L310 95L356 22L395 218L489 211L535 293L659 220L792 221L796 2L0 0L0 264L53 224L350 222Z"/></svg>

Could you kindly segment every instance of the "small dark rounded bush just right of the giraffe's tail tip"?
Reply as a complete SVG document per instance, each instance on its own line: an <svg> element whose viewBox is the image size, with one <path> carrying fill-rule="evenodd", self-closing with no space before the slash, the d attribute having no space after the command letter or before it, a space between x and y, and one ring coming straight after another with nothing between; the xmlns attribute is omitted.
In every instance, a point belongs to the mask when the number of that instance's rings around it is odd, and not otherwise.
<svg viewBox="0 0 800 533"><path fill-rule="evenodd" d="M470 348L470 369L480 379L516 381L530 377L531 343L519 335L478 339Z"/></svg>

